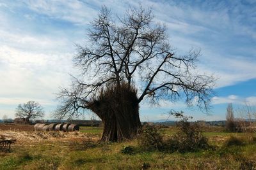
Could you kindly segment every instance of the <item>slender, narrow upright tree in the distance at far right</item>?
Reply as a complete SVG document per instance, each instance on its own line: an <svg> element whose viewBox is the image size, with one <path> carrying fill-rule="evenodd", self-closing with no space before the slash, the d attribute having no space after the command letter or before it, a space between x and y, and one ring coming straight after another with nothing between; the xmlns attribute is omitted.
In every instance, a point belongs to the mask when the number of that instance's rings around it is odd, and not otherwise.
<svg viewBox="0 0 256 170"><path fill-rule="evenodd" d="M232 103L229 103L227 106L226 129L230 132L236 131L236 120L234 117L234 110L233 110Z"/></svg>

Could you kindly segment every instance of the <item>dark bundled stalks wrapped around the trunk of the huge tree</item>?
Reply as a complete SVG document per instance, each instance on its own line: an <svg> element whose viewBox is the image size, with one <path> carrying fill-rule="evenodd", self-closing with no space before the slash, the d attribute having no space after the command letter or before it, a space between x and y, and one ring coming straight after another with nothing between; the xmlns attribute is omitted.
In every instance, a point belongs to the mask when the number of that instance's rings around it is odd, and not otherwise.
<svg viewBox="0 0 256 170"><path fill-rule="evenodd" d="M136 90L129 85L102 90L88 108L104 123L101 141L132 139L141 127L138 97Z"/></svg>

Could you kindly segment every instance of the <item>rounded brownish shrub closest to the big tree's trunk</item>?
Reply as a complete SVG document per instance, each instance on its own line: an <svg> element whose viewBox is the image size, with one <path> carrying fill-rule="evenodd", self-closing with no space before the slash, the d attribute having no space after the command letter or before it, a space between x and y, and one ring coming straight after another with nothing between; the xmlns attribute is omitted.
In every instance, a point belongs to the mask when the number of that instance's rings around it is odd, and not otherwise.
<svg viewBox="0 0 256 170"><path fill-rule="evenodd" d="M159 127L145 124L140 131L138 143L145 150L161 150L163 148L163 136Z"/></svg>

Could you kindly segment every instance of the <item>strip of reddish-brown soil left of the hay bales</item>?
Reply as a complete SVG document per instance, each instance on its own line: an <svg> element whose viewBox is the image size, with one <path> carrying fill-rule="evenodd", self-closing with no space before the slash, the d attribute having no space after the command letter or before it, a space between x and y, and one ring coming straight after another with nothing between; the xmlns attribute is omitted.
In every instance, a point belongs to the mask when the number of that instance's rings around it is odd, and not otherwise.
<svg viewBox="0 0 256 170"><path fill-rule="evenodd" d="M0 124L0 131L33 131L33 125L24 124Z"/></svg>

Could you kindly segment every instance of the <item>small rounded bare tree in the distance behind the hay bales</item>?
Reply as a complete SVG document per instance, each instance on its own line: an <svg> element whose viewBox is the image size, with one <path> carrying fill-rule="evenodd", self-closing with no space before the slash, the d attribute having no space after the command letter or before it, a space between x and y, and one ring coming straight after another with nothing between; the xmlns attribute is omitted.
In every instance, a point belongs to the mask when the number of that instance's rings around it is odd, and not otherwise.
<svg viewBox="0 0 256 170"><path fill-rule="evenodd" d="M44 117L44 110L39 103L28 101L28 103L19 104L16 109L15 117L25 118L25 124L29 124L35 118Z"/></svg>

